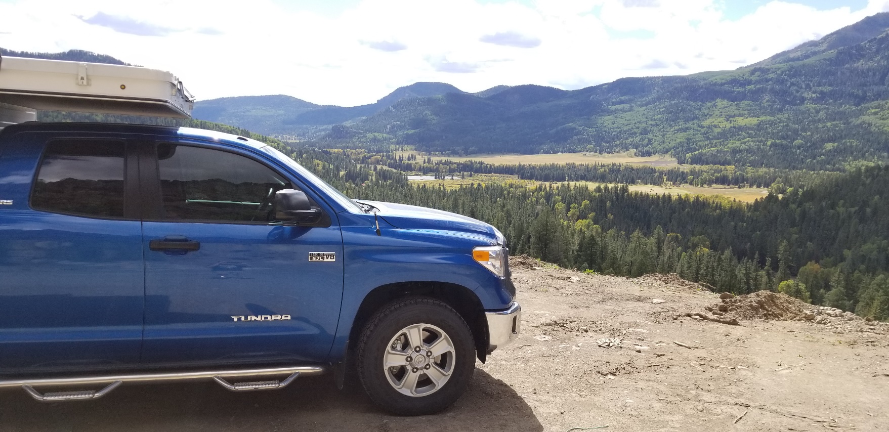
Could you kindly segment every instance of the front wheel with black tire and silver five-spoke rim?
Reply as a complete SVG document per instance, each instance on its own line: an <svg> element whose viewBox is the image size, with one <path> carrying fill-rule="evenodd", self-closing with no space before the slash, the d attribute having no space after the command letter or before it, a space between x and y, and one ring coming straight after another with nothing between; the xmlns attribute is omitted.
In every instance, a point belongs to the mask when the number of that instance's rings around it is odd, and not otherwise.
<svg viewBox="0 0 889 432"><path fill-rule="evenodd" d="M426 297L380 308L361 333L357 370L374 403L399 415L440 412L466 390L476 348L453 308Z"/></svg>

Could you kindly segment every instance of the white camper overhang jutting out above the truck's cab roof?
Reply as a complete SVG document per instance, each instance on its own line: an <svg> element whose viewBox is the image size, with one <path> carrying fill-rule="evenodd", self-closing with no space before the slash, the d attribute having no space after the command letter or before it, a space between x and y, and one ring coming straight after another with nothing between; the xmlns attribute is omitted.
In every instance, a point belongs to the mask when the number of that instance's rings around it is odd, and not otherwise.
<svg viewBox="0 0 889 432"><path fill-rule="evenodd" d="M194 102L164 70L0 56L0 128L38 109L190 118Z"/></svg>

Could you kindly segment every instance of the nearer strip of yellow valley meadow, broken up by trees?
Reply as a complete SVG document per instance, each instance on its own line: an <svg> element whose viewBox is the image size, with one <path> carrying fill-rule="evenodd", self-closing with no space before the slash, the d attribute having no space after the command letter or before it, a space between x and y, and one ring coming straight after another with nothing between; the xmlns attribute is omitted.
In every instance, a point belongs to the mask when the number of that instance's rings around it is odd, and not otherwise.
<svg viewBox="0 0 889 432"><path fill-rule="evenodd" d="M507 174L476 174L473 177L468 177L462 180L411 180L412 183L417 185L445 185L445 188L460 188L461 186L470 185L473 183L503 183L508 181L523 183L527 186L536 186L541 183L540 181L533 180L518 180L516 176ZM572 185L587 185L589 186L589 188L605 186L605 183L596 183L592 181L569 181L569 183L571 183ZM672 194L677 196L725 196L726 198L736 199L744 203L752 203L756 201L757 198L762 198L769 194L769 189L767 188L733 188L719 185L709 187L698 187L692 185L681 185L672 187L654 185L629 185L629 190L636 192L645 192L648 194Z"/></svg>

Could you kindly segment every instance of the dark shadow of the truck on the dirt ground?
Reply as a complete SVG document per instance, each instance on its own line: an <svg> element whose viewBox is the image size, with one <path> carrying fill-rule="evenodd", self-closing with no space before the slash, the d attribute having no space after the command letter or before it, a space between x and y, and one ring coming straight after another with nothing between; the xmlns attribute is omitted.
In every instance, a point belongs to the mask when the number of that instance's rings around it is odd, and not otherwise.
<svg viewBox="0 0 889 432"><path fill-rule="evenodd" d="M380 431L543 430L513 388L476 369L466 393L445 412L398 417L383 412L355 382L305 377L282 390L233 393L212 382L124 385L88 402L38 403L0 391L0 429L9 431Z"/></svg>

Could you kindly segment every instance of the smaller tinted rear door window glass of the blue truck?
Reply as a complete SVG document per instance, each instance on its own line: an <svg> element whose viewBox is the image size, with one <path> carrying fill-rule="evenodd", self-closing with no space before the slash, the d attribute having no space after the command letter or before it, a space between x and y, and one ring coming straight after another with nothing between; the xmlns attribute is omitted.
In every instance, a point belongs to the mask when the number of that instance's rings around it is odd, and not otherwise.
<svg viewBox="0 0 889 432"><path fill-rule="evenodd" d="M124 217L124 142L58 140L47 144L31 193L46 212Z"/></svg>

